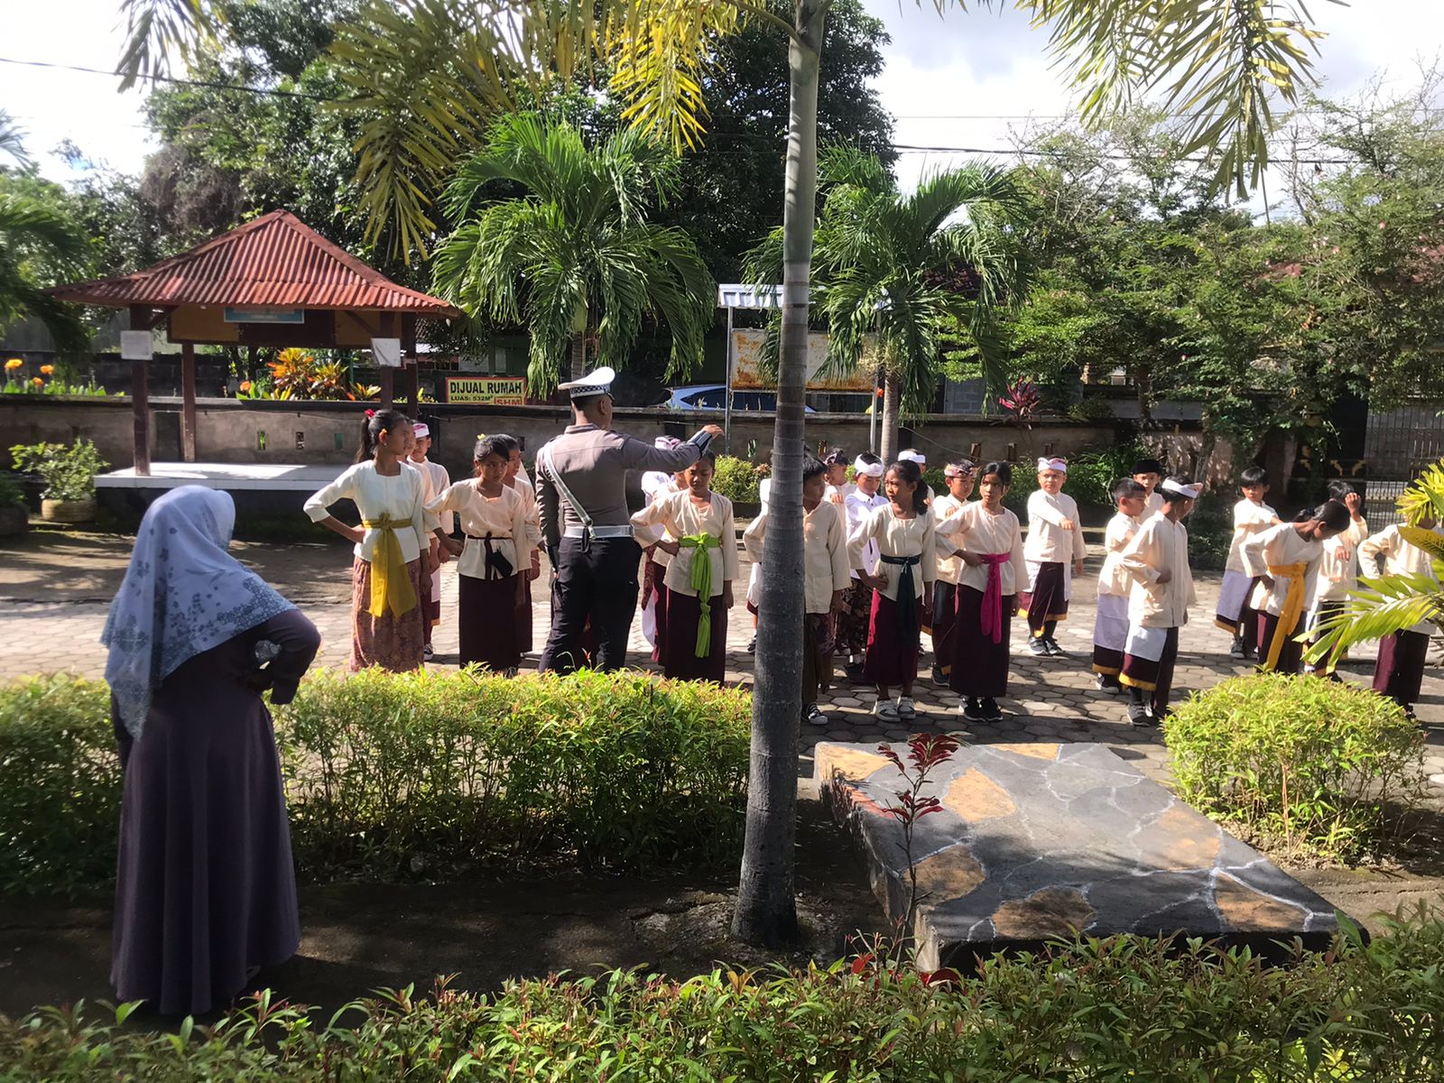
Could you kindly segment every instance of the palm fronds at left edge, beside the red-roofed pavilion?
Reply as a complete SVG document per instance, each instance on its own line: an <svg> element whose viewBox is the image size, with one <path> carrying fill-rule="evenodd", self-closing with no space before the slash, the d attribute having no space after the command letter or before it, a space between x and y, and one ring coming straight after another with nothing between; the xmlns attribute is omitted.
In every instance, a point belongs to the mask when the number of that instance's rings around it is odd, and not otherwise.
<svg viewBox="0 0 1444 1083"><path fill-rule="evenodd" d="M32 196L0 192L0 331L38 319L59 352L87 347L90 335L75 309L45 293L45 286L77 277L90 241L53 206Z"/></svg>

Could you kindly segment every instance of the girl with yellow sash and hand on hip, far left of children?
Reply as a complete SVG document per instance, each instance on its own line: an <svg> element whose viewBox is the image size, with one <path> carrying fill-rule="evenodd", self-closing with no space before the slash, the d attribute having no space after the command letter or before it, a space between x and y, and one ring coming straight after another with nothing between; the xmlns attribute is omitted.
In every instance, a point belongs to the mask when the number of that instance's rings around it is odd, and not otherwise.
<svg viewBox="0 0 1444 1083"><path fill-rule="evenodd" d="M355 543L351 565L351 669L381 666L394 673L422 667L426 612L436 556L426 484L407 464L416 432L399 410L367 410L357 462L305 504L319 523ZM361 513L360 526L331 514L338 500Z"/></svg>

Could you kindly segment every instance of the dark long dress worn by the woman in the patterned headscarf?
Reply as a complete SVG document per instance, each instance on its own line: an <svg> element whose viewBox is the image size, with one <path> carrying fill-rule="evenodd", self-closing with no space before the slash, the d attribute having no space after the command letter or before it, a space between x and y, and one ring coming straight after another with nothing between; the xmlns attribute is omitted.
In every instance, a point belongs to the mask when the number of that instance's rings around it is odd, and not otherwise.
<svg viewBox="0 0 1444 1083"><path fill-rule="evenodd" d="M295 609L180 664L139 741L114 719L126 788L110 979L168 1015L224 1005L250 967L300 943L280 757L248 683L260 640L282 650L267 674L289 703L321 645Z"/></svg>

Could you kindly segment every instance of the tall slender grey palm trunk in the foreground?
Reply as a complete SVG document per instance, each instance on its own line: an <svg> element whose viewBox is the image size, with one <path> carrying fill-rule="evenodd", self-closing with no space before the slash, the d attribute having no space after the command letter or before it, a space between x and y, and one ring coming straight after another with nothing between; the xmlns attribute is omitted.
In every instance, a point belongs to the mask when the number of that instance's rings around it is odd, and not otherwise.
<svg viewBox="0 0 1444 1083"><path fill-rule="evenodd" d="M762 556L752 692L747 840L732 934L768 947L797 940L797 725L803 653L803 419L807 300L817 204L817 74L829 0L797 0L788 51L791 116L783 209L783 336L773 429L773 488Z"/></svg>

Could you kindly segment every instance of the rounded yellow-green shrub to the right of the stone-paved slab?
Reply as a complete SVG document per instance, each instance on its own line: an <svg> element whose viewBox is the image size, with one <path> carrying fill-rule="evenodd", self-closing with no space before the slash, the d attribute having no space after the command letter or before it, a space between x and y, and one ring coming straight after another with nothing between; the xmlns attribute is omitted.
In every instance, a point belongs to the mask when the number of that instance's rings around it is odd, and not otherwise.
<svg viewBox="0 0 1444 1083"><path fill-rule="evenodd" d="M1424 734L1385 696L1264 673L1196 692L1164 722L1178 790L1265 845L1354 859L1421 796Z"/></svg>

